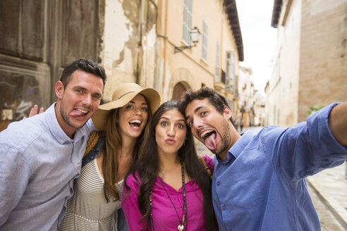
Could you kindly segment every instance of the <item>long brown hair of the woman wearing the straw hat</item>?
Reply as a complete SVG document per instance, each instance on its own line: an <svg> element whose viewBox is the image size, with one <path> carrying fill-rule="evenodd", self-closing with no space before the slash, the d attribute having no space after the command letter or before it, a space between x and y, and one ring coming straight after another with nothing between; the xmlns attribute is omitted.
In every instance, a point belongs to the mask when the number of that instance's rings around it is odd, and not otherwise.
<svg viewBox="0 0 347 231"><path fill-rule="evenodd" d="M138 161L138 158L142 155L143 146L145 145L145 138L148 136L150 130L150 121L152 119L152 111L150 102L146 99L147 104L147 123L144 130L142 130L138 139L136 139L133 149L133 161L132 165ZM119 117L119 108L113 109L106 120L106 140L103 146L104 158L102 161L102 170L104 171L104 195L107 202L109 202L109 193L114 196L116 201L119 200L119 194L114 186L116 182L119 182L118 172L118 151L122 148L121 135L119 134L119 124L116 123ZM108 193L109 192L109 193Z"/></svg>

